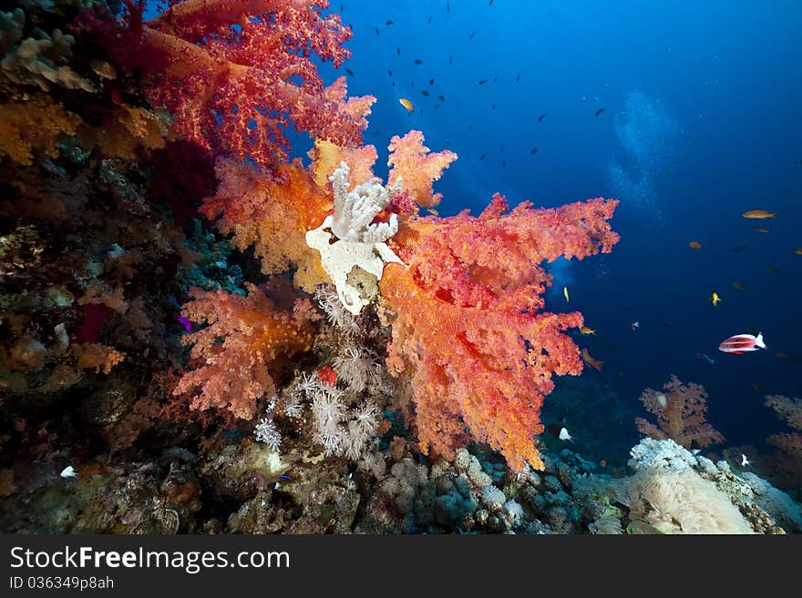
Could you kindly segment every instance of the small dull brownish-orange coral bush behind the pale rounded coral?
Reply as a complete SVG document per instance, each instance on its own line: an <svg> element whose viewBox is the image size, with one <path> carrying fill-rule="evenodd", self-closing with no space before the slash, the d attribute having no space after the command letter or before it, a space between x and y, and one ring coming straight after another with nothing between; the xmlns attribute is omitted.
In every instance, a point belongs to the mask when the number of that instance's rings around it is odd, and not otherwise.
<svg viewBox="0 0 802 598"><path fill-rule="evenodd" d="M657 416L656 426L643 418L635 418L638 431L646 436L657 440L670 438L686 449L724 442L724 436L704 420L707 392L701 384L683 384L672 374L671 380L663 385L663 391L643 390L641 402Z"/></svg>

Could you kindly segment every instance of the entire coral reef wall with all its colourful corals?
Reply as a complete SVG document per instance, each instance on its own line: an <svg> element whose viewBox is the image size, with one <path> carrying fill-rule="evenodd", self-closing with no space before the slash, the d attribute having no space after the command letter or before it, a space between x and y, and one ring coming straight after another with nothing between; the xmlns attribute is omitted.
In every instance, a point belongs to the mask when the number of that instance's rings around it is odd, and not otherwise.
<svg viewBox="0 0 802 598"><path fill-rule="evenodd" d="M621 412L598 381L540 438L554 377L602 370L582 314L545 310L544 264L610 252L618 202L440 217L457 155L417 130L375 177L375 97L317 71L350 54L325 0L6 5L0 531L802 529L769 481L673 441L630 476L585 459L588 414ZM673 380L642 431L719 439Z"/></svg>

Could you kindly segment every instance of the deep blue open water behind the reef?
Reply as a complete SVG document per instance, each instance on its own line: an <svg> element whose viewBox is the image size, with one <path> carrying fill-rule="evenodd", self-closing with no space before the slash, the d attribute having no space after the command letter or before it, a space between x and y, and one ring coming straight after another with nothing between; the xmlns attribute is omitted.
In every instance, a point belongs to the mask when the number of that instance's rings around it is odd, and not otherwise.
<svg viewBox="0 0 802 598"><path fill-rule="evenodd" d="M346 0L332 9L354 30L353 56L321 74L330 83L350 69L349 94L377 97L365 143L379 151L378 176L389 138L414 128L459 156L435 186L441 216L478 214L495 191L512 205L621 200L612 254L551 266L547 308L580 309L597 330L577 342L605 364L583 376L650 419L643 389L671 374L701 383L725 446L764 450L768 434L787 431L764 395L802 396L802 3ZM295 142L298 156L309 147ZM742 218L750 209L777 218ZM750 331L763 332L767 350L717 350Z"/></svg>

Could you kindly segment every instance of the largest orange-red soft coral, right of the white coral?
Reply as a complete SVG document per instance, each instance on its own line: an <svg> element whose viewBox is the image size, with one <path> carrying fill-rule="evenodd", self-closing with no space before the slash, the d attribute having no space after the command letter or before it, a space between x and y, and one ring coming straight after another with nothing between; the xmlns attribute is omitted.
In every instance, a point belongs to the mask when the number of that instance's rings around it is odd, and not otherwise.
<svg viewBox="0 0 802 598"><path fill-rule="evenodd" d="M542 469L533 439L543 430L540 406L552 374L581 372L579 349L562 330L582 317L538 313L550 284L540 264L610 251L616 204L523 203L505 214L497 194L478 218L412 218L391 239L406 267L388 265L380 285L396 312L387 365L411 377L423 451L451 456L470 435L515 470L527 461Z"/></svg>

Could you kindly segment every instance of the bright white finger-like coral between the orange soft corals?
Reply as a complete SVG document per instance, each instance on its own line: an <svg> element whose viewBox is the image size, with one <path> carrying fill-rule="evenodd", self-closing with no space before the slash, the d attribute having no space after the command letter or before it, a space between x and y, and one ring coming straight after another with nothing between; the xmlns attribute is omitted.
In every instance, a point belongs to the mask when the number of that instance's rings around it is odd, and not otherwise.
<svg viewBox="0 0 802 598"><path fill-rule="evenodd" d="M385 241L396 234L398 218L374 223L373 219L390 203L397 187L385 188L378 178L349 190L350 168L344 162L329 177L334 188L334 214L318 228L306 232L306 244L320 252L321 265L334 283L340 301L358 314L375 296L385 264L403 263ZM400 180L397 183L400 186ZM360 271L361 270L361 271ZM375 285L353 286L352 273L375 278Z"/></svg>

